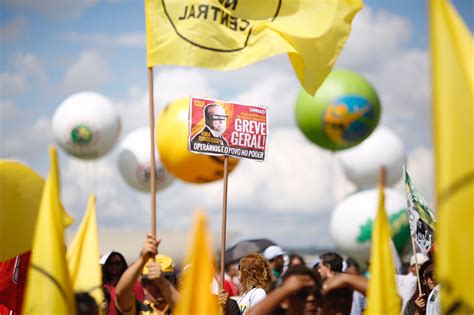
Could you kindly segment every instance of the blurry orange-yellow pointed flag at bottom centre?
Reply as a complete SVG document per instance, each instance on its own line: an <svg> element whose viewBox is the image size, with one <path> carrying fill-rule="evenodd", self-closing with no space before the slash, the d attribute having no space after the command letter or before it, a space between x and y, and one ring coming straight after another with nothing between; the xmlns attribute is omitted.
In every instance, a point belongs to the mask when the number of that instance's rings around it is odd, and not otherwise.
<svg viewBox="0 0 474 315"><path fill-rule="evenodd" d="M186 260L191 268L183 276L182 297L173 314L219 314L217 296L211 293L214 268L206 218L200 212L196 214L196 226L191 239L193 244L188 249Z"/></svg>

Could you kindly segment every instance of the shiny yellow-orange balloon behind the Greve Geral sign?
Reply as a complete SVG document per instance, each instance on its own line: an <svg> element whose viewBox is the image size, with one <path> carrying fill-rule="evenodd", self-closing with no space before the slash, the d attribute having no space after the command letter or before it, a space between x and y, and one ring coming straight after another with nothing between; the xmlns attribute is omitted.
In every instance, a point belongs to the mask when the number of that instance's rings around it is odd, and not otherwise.
<svg viewBox="0 0 474 315"><path fill-rule="evenodd" d="M195 154L188 151L189 98L168 104L156 122L156 141L160 159L175 177L189 183L202 184L224 177L224 157ZM231 172L239 159L229 158Z"/></svg>

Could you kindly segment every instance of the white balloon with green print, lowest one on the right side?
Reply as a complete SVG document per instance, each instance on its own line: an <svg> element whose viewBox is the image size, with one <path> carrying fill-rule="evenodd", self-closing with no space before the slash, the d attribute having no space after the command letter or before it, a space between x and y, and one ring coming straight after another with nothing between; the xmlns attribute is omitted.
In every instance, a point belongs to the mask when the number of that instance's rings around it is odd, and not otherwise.
<svg viewBox="0 0 474 315"><path fill-rule="evenodd" d="M378 208L379 191L369 189L347 196L334 209L330 234L338 251L366 265L370 258L372 224ZM407 201L404 194L385 189L385 210L392 228L392 240L398 253L410 241Z"/></svg>

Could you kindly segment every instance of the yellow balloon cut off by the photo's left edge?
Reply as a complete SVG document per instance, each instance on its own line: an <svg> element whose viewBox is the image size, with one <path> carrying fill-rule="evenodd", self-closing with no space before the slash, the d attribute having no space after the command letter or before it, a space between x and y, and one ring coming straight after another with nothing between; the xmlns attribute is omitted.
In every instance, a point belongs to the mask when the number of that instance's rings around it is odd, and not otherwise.
<svg viewBox="0 0 474 315"><path fill-rule="evenodd" d="M0 261L31 250L43 186L29 167L0 161Z"/></svg>

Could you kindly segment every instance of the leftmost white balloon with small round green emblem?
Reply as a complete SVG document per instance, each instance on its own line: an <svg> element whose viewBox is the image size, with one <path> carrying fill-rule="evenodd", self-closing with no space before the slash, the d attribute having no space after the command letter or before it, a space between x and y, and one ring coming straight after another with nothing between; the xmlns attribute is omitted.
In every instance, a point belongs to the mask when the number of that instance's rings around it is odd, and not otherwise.
<svg viewBox="0 0 474 315"><path fill-rule="evenodd" d="M108 153L120 135L120 117L112 103L96 92L80 92L66 98L52 121L54 140L80 159L96 159Z"/></svg>

